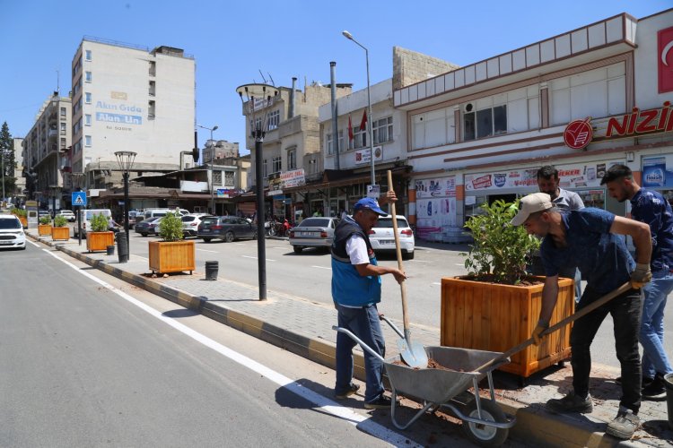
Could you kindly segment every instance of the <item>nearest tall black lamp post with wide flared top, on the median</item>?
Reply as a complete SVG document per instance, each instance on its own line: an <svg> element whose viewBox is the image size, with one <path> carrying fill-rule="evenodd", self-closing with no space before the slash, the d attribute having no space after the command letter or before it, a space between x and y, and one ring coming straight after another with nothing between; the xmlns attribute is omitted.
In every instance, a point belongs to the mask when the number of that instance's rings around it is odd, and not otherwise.
<svg viewBox="0 0 673 448"><path fill-rule="evenodd" d="M257 189L257 258L259 279L259 300L267 300L267 248L264 235L264 176L262 172L262 143L267 125L268 112L278 96L278 89L267 84L246 84L236 88L243 103L248 104L250 136L255 139L255 186Z"/></svg>

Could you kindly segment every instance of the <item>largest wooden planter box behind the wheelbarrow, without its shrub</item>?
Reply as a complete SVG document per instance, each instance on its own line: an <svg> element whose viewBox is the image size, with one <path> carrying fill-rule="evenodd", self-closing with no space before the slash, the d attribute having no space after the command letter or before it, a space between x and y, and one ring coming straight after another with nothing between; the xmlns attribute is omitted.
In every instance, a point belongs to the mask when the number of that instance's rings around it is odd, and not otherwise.
<svg viewBox="0 0 673 448"><path fill-rule="evenodd" d="M571 279L558 281L558 301L550 325L574 313L573 285ZM504 352L528 340L538 324L542 287L441 279L441 345ZM526 378L570 358L571 328L568 325L551 333L538 347L523 349L500 370Z"/></svg>

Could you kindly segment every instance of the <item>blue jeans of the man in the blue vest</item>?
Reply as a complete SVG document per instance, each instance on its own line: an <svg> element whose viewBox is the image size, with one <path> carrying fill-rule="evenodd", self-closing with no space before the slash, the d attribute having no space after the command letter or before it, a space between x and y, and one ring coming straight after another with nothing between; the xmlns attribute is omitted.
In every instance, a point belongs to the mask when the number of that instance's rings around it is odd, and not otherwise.
<svg viewBox="0 0 673 448"><path fill-rule="evenodd" d="M372 350L386 356L386 343L383 340L383 332L380 329L379 311L376 305L363 308L349 308L337 304L338 325L350 330L360 338ZM347 391L353 380L353 349L356 342L348 335L337 332L337 394ZM366 375L366 387L364 401L377 400L383 393L383 362L373 357L367 350L364 352L364 372Z"/></svg>

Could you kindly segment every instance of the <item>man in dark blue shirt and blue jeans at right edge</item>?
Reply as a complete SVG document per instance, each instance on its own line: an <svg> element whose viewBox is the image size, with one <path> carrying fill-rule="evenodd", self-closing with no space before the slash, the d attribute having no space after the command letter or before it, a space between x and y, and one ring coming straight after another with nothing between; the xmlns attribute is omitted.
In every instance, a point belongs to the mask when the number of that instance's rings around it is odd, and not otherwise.
<svg viewBox="0 0 673 448"><path fill-rule="evenodd" d="M607 170L600 185L607 185L610 197L631 202L631 216L650 225L652 280L642 289L640 341L642 345L642 397L662 398L666 393L664 375L673 373L664 350L664 308L673 291L673 212L664 197L641 188L631 168L614 165Z"/></svg>

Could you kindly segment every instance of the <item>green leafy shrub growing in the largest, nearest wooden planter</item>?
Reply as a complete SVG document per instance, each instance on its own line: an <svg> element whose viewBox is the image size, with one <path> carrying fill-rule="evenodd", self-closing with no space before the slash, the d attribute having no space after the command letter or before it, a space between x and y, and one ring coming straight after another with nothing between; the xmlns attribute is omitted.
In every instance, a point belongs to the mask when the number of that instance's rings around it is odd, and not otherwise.
<svg viewBox="0 0 673 448"><path fill-rule="evenodd" d="M475 240L470 246L465 267L476 280L517 285L528 274L530 254L539 248L537 237L529 235L524 226L510 221L519 211L516 202L494 201L481 206L484 214L475 215L465 224Z"/></svg>

